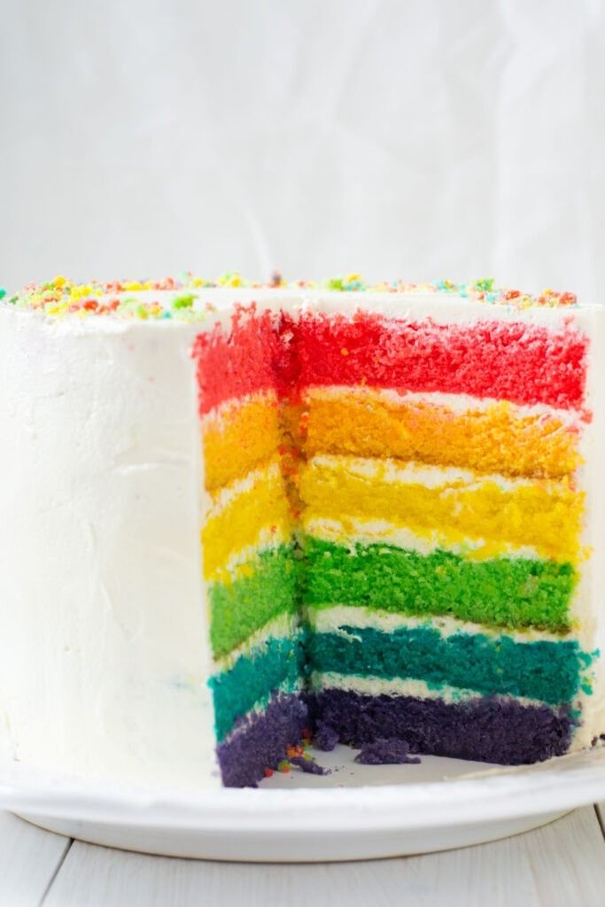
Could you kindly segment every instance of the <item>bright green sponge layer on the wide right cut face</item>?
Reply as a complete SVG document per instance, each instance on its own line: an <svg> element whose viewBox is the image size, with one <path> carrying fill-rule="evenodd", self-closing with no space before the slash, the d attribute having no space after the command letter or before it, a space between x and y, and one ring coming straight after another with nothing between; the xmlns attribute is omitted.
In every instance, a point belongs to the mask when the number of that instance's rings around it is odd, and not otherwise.
<svg viewBox="0 0 605 907"><path fill-rule="evenodd" d="M346 548L307 536L307 605L358 605L410 615L446 614L497 627L570 629L576 571L569 563L495 558L470 561L437 549L419 554L385 544Z"/></svg>

